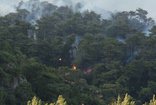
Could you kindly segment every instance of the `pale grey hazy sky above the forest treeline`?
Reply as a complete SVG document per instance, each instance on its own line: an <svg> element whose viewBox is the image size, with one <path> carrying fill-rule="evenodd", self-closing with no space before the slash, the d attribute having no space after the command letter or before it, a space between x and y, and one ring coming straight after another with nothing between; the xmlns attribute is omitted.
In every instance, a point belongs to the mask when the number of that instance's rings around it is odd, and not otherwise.
<svg viewBox="0 0 156 105"><path fill-rule="evenodd" d="M0 0L0 15L6 15L15 11L15 6L21 0ZM28 0L23 0L28 1ZM80 2L84 4L84 9L94 10L102 8L106 11L134 11L142 8L148 11L148 16L156 20L156 0L40 0L56 3L58 6L65 5L65 2L72 1L73 4Z"/></svg>

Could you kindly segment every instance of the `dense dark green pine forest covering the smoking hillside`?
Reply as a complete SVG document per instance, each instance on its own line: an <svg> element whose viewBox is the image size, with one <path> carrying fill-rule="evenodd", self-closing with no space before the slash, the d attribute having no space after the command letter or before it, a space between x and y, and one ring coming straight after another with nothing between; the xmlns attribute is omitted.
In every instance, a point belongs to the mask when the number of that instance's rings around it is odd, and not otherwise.
<svg viewBox="0 0 156 105"><path fill-rule="evenodd" d="M21 1L17 12L0 16L1 105L29 105L34 96L54 103L59 95L66 105L115 105L126 93L135 105L150 102L156 26L146 10L103 19L80 12L80 3L73 11L37 1Z"/></svg>

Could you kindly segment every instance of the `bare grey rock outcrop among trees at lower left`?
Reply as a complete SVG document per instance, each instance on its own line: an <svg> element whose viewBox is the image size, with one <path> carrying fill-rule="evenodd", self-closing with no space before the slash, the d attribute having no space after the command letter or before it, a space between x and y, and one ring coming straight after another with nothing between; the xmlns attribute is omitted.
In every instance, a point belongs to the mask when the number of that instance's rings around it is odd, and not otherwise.
<svg viewBox="0 0 156 105"><path fill-rule="evenodd" d="M27 82L26 78L23 75L19 75L18 77L14 77L11 82L11 88L16 89L21 83Z"/></svg>

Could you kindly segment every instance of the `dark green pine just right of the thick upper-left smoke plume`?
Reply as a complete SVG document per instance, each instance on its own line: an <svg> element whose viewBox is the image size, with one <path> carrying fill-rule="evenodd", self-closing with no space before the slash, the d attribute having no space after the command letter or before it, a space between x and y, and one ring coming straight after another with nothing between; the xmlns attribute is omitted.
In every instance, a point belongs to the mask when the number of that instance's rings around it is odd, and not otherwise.
<svg viewBox="0 0 156 105"><path fill-rule="evenodd" d="M59 12L54 12L50 16L43 16L40 20L37 20L37 38L38 40L47 40L51 42L56 36L55 28L57 24L62 21L63 15Z"/></svg>

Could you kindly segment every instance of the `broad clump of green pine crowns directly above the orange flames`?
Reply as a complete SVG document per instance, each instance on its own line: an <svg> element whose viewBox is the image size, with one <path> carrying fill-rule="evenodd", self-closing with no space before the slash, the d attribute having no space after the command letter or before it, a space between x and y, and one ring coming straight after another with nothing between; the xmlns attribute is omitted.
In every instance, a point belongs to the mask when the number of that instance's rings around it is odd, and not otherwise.
<svg viewBox="0 0 156 105"><path fill-rule="evenodd" d="M74 64L78 67L85 67L86 65L95 64L95 61L107 64L119 61L123 57L123 46L116 39L108 38L101 34L95 36L85 34L84 38L79 42Z"/></svg>

